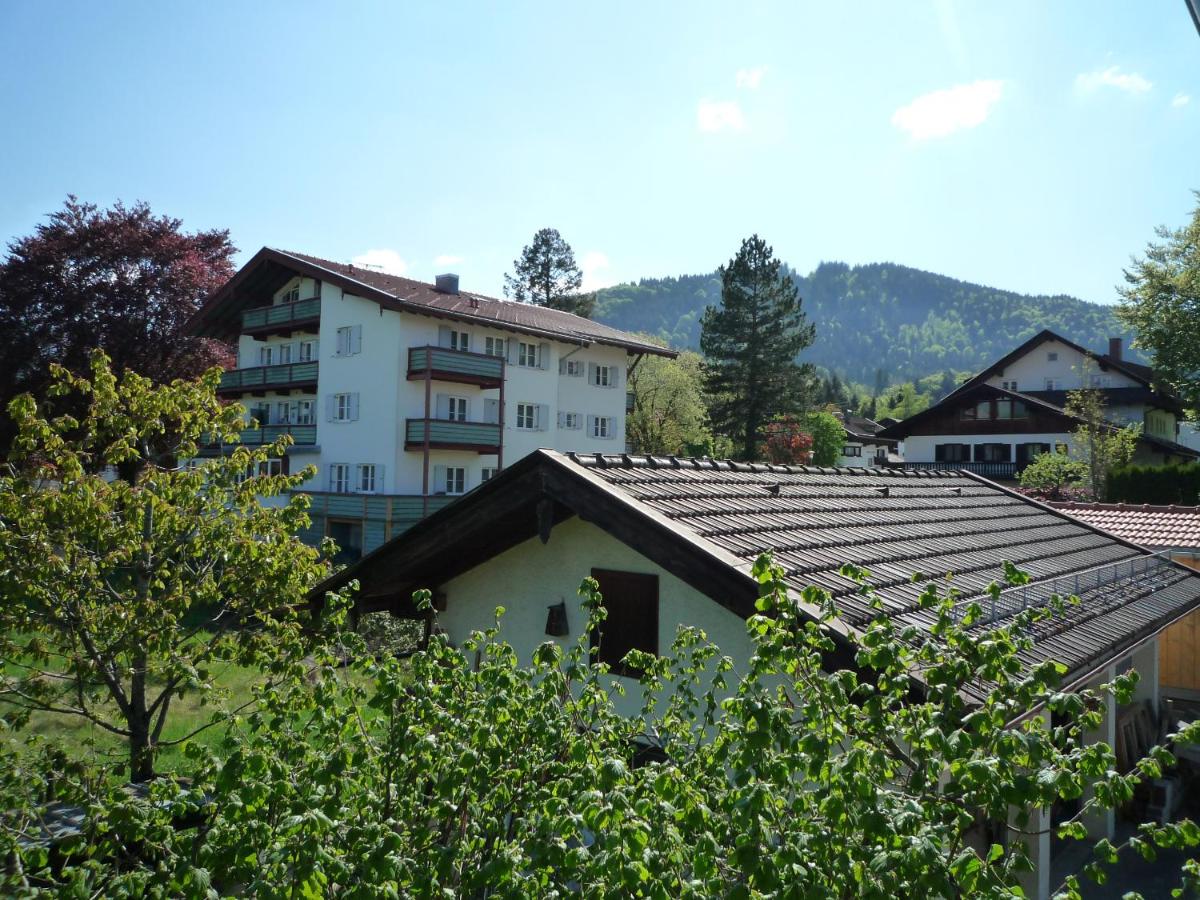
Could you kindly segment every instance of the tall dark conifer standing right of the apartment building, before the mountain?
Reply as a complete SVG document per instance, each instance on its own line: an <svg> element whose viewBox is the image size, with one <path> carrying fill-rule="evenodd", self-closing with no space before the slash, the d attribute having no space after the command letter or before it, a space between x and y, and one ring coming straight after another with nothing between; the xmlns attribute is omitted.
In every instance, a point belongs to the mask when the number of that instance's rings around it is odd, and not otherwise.
<svg viewBox="0 0 1200 900"><path fill-rule="evenodd" d="M757 234L742 241L720 276L720 306L704 310L700 336L709 418L752 460L767 421L808 406L812 366L797 355L815 329L791 275Z"/></svg>

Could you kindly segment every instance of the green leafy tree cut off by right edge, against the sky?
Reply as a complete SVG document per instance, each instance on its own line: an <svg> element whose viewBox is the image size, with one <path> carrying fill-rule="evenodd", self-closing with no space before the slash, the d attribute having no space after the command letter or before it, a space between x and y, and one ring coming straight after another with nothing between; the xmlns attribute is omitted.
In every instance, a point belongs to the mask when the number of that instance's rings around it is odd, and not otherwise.
<svg viewBox="0 0 1200 900"><path fill-rule="evenodd" d="M1120 288L1117 314L1136 330L1135 347L1150 350L1154 374L1200 414L1200 192L1192 221L1182 228L1157 229L1134 259Z"/></svg>

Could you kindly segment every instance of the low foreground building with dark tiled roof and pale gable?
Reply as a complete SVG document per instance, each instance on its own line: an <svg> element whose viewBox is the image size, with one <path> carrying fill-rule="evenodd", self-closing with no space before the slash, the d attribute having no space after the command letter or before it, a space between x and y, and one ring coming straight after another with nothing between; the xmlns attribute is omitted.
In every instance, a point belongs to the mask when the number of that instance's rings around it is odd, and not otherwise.
<svg viewBox="0 0 1200 900"><path fill-rule="evenodd" d="M528 661L546 641L578 640L587 617L576 590L590 575L607 611L602 660L617 664L632 648L664 653L679 625L695 625L737 664L751 652L745 619L760 589L751 566L769 550L797 594L815 584L839 604L830 628L839 648L834 667L853 665L858 635L881 610L900 626L928 626L929 613L919 608L928 578L953 572L965 601L983 602L980 629L1054 594L1078 594L1078 606L1037 626L1022 661L1064 664L1064 689L1136 670L1141 679L1129 707L1110 701L1092 736L1114 746L1129 715L1158 715L1160 635L1200 606L1200 577L1189 569L970 472L551 450L526 456L332 576L312 599L358 578L360 608L418 618L425 613L412 593L428 588L437 624L455 643L491 626L494 608L504 606L502 637ZM1004 560L1033 580L992 602L988 586L1002 577ZM880 607L839 574L847 563L872 572ZM917 572L937 575L914 582ZM986 688L964 691L980 701ZM631 690L617 702L636 714L641 698ZM1044 827L1032 848L1036 896L1049 893L1050 815L1036 818ZM1112 838L1115 818L1096 816L1087 826Z"/></svg>

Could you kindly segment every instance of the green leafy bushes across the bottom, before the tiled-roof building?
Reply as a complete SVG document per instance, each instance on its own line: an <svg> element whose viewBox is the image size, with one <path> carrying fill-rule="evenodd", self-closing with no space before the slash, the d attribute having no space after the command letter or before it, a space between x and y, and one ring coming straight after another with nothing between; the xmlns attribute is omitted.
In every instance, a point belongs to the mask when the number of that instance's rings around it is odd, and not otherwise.
<svg viewBox="0 0 1200 900"><path fill-rule="evenodd" d="M145 804L59 776L60 796L95 810L86 852L52 865L44 850L0 829L0 887L698 900L800 886L821 898L1027 896L1037 810L1078 802L1055 834L1093 844L1088 817L1175 766L1160 744L1120 773L1112 749L1090 740L1110 697L1129 701L1135 676L1064 691L1062 666L1021 661L1032 631L1052 625L1067 601L984 625L980 604L964 606L929 582L917 601L928 629L881 613L862 629L853 665L830 673L829 594L794 593L768 558L754 575L762 596L746 622L750 658L734 662L698 629L680 628L662 656L626 658L644 672L635 716L617 713L624 689L607 666L589 664L604 617L590 578L580 592L587 626L532 660L504 642L503 608L461 647L434 631L408 661L352 654L350 678L337 655L318 650L314 668L293 661L290 679L260 692L260 709L229 730L220 755L194 748L190 786L160 781ZM842 575L882 607L868 572ZM1008 566L990 594L1022 581ZM418 599L432 614L428 593ZM968 685L985 696L968 701ZM1039 707L1044 715L1013 724ZM1198 738L1200 725L1171 737ZM10 821L36 821L29 798L54 790L60 768L19 758L0 772ZM198 811L203 832L172 827ZM1094 842L1086 872L1102 878L1120 852L1153 858L1198 842L1190 821L1150 822L1122 846ZM139 858L130 847L152 852ZM1188 863L1183 886L1198 884L1196 871ZM1080 896L1079 878L1058 887Z"/></svg>

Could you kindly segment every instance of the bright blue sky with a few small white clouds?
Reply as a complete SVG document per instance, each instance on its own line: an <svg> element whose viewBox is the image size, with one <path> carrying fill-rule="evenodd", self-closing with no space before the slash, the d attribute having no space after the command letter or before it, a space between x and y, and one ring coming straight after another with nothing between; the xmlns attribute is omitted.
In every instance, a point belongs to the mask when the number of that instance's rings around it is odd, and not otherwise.
<svg viewBox="0 0 1200 900"><path fill-rule="evenodd" d="M454 270L558 228L593 286L752 232L1111 301L1200 188L1200 35L1129 2L0 5L0 241L67 193Z"/></svg>

